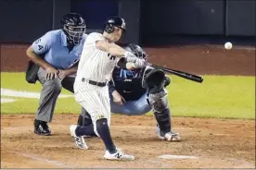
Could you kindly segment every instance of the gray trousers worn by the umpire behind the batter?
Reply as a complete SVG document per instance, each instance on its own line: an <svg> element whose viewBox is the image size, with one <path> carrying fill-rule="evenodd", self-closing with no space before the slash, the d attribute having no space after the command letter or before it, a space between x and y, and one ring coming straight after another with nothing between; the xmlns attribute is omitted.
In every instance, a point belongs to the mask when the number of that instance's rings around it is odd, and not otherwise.
<svg viewBox="0 0 256 170"><path fill-rule="evenodd" d="M40 67L37 73L37 77L40 83L43 85L43 89L40 94L39 107L36 112L36 119L51 122L55 104L58 99L58 95L62 87L70 92L74 92L73 84L75 77L66 77L62 81L60 79L46 79L45 70ZM82 113L85 112L85 109L82 109Z"/></svg>

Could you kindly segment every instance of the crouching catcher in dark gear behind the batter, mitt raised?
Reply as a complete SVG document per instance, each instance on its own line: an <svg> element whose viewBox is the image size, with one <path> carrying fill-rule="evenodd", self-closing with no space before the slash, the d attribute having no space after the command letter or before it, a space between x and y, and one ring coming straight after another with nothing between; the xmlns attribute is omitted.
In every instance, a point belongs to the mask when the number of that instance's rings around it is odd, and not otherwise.
<svg viewBox="0 0 256 170"><path fill-rule="evenodd" d="M147 61L147 54L139 45L129 44L126 50ZM109 82L111 113L145 115L153 110L157 120L157 136L161 140L180 140L179 134L174 133L171 126L171 112L165 89L170 83L171 79L160 69L148 66L134 70L115 67L112 81ZM79 116L79 126L91 123L88 113L83 112Z"/></svg>

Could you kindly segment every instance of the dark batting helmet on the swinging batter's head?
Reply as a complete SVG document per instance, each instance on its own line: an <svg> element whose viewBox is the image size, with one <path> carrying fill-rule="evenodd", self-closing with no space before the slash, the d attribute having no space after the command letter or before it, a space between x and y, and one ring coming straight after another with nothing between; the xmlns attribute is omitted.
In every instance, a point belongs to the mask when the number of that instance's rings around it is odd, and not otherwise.
<svg viewBox="0 0 256 170"><path fill-rule="evenodd" d="M108 33L112 33L114 31L114 27L118 27L122 30L126 30L126 24L123 18L120 17L110 17L105 23L104 30Z"/></svg>

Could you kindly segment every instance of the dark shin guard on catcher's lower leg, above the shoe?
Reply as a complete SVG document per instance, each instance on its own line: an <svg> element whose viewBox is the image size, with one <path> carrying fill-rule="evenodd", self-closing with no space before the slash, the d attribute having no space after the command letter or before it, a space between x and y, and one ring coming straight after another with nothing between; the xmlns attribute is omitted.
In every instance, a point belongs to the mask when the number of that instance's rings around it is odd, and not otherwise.
<svg viewBox="0 0 256 170"><path fill-rule="evenodd" d="M166 108L162 112L154 112L155 118L160 128L160 135L171 131L170 109Z"/></svg>

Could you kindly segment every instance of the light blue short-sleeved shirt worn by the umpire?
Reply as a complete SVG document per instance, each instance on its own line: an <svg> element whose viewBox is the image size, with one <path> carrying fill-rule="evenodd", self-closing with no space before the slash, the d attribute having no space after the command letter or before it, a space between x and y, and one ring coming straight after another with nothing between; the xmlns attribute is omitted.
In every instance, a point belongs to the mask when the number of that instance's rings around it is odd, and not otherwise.
<svg viewBox="0 0 256 170"><path fill-rule="evenodd" d="M51 30L45 33L43 37L32 43L33 51L45 58L45 61L57 69L72 67L82 55L83 42L75 45L71 51L68 48L67 36L63 30Z"/></svg>

